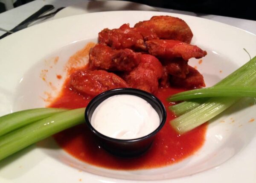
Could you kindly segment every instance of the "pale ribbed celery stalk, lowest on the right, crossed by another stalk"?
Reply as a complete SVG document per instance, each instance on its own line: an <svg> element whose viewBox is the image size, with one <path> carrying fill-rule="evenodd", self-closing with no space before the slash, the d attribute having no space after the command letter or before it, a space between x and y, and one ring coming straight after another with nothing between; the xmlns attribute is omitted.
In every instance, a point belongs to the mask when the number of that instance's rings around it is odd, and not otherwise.
<svg viewBox="0 0 256 183"><path fill-rule="evenodd" d="M256 57L254 62L249 62L249 66L243 71L243 74L236 78L232 84L250 86L256 84ZM253 60L252 59L252 60ZM202 103L198 107L184 113L172 120L170 123L175 130L183 134L199 125L207 122L209 119L217 116L219 113L233 105L239 100L238 97L214 97Z"/></svg>

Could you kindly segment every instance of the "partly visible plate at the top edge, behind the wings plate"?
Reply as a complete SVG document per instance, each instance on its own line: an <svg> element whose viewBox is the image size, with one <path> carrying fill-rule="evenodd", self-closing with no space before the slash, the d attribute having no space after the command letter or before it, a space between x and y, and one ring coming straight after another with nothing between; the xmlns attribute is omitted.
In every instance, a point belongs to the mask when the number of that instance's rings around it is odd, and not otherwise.
<svg viewBox="0 0 256 183"><path fill-rule="evenodd" d="M130 1L122 0L95 0L95 1L84 1L82 3L77 3L73 6L68 6L67 8L59 11L54 19L69 17L73 15L81 15L85 13L94 12L109 12L109 11L124 11L124 10L137 10L137 11L157 11L154 7L134 3Z"/></svg>

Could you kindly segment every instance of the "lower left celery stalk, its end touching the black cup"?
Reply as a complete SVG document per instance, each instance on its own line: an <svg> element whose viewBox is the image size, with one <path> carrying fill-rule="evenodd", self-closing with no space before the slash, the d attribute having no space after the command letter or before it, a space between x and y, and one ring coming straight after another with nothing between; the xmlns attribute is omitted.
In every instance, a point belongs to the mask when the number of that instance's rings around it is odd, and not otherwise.
<svg viewBox="0 0 256 183"><path fill-rule="evenodd" d="M84 108L57 113L0 137L0 160L67 128L84 122Z"/></svg>

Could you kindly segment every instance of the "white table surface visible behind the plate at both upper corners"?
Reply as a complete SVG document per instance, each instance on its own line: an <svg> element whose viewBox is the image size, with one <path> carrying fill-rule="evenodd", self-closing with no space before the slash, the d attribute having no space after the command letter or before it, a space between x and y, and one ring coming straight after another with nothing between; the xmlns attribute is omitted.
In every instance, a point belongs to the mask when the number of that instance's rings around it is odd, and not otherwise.
<svg viewBox="0 0 256 183"><path fill-rule="evenodd" d="M0 14L0 27L6 30L10 30L15 27L17 24L25 20L27 17L32 15L34 12L38 11L42 6L47 4L52 4L55 8L59 7L67 7L72 6L76 3L84 2L85 0L35 0L30 3L27 3L23 6L19 6L15 9L11 9L7 12L3 12ZM203 17L209 20L215 20L221 23L226 23L231 26L238 27L240 29L244 29L248 32L256 34L256 21L254 20L245 20L233 17L224 17L218 15L206 15L206 14L198 14L195 12L185 12L173 9L165 9L165 8L156 8L162 12L172 12L172 13L180 13L185 15L192 15L196 17ZM0 35L3 35L5 32L0 31Z"/></svg>

